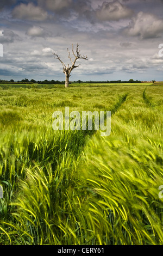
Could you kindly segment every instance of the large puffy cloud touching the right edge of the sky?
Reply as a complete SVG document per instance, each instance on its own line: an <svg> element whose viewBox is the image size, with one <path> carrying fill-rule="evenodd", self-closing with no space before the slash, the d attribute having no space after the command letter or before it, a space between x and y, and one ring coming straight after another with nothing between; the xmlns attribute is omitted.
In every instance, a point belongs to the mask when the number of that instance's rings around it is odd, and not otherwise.
<svg viewBox="0 0 163 256"><path fill-rule="evenodd" d="M163 32L163 20L153 14L140 11L124 33L130 36L140 36L141 39L156 38Z"/></svg>

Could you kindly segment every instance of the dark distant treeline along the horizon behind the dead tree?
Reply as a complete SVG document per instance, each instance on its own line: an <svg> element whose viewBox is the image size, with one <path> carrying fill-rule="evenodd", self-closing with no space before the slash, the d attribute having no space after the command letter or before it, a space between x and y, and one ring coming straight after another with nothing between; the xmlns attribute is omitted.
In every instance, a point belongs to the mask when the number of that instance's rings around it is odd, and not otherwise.
<svg viewBox="0 0 163 256"><path fill-rule="evenodd" d="M13 79L11 79L10 81L7 81L7 80L0 80L0 83L13 83L13 84L33 84L33 83L37 83L37 84L65 84L65 81L54 81L54 80L51 80L51 81L48 81L48 80L44 80L44 81L36 81L34 79L32 80L28 80L27 78L26 79L23 79L21 81L14 81ZM115 81L81 81L81 80L78 80L78 81L71 81L70 83L141 83L141 81L134 81L133 79L130 79L129 81L121 81L121 80L115 80Z"/></svg>

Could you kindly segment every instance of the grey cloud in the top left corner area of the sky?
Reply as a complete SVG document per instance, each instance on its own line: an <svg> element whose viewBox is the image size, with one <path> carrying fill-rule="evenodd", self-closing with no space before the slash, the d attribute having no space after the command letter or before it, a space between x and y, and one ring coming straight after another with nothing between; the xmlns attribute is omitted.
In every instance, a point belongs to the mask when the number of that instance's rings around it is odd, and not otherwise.
<svg viewBox="0 0 163 256"><path fill-rule="evenodd" d="M47 19L48 14L47 11L35 6L33 3L21 3L12 10L12 17L16 19L43 21Z"/></svg>

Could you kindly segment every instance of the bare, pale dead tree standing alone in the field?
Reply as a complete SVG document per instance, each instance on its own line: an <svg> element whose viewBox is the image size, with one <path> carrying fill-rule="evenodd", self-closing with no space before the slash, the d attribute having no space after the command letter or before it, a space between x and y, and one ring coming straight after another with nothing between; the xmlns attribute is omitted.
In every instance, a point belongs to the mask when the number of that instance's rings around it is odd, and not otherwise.
<svg viewBox="0 0 163 256"><path fill-rule="evenodd" d="M77 59L85 59L85 60L88 60L87 59L87 56L82 56L80 54L80 50L78 49L79 45L77 44L77 47L76 47L76 53L74 53L74 48L73 48L73 44L72 44L72 53L73 53L73 56L75 57L74 61L72 60L72 58L70 57L70 51L68 50L67 48L67 51L68 51L68 58L71 60L71 63L72 63L72 66L70 66L70 64L68 64L67 66L61 61L60 57L56 54L56 53L53 53L54 54L54 59L58 59L62 66L63 66L63 72L66 76L66 79L65 79L65 87L68 87L68 84L69 84L69 77L70 77L70 73L71 71L74 69L74 68L78 68L78 66L75 66L76 64L76 61Z"/></svg>

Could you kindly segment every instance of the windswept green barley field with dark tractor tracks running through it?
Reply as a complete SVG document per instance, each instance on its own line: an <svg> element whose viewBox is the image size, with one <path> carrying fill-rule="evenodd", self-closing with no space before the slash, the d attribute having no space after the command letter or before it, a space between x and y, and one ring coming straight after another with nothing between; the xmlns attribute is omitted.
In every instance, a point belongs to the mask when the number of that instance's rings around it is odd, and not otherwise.
<svg viewBox="0 0 163 256"><path fill-rule="evenodd" d="M0 86L0 245L163 245L163 84ZM111 134L54 111L111 111Z"/></svg>

